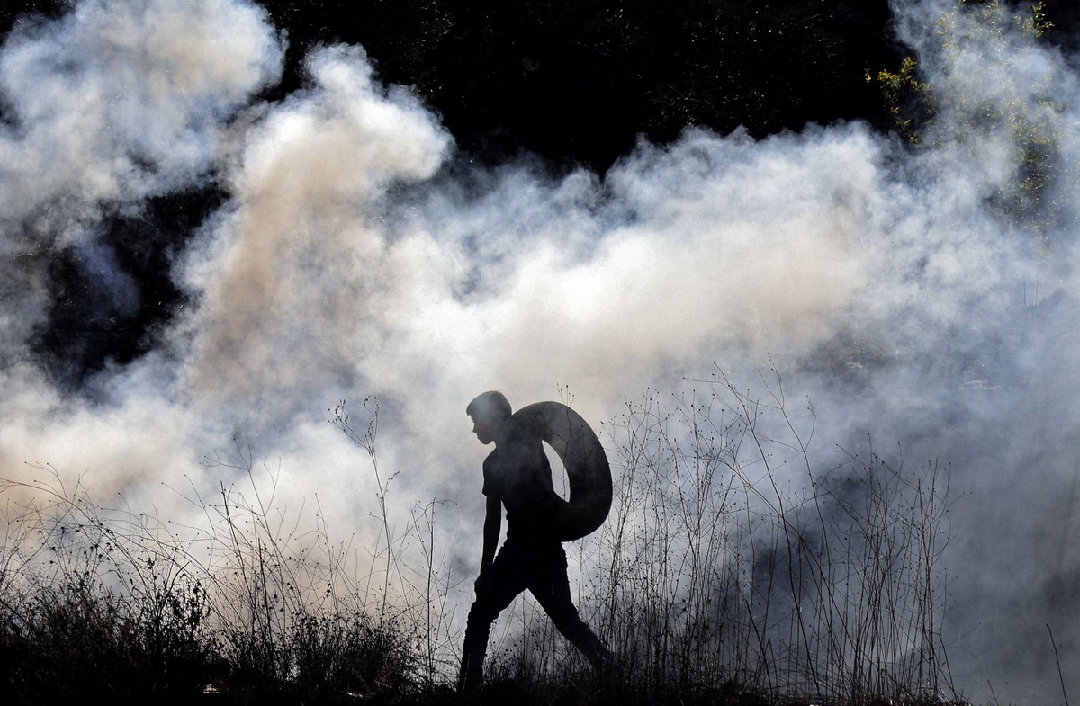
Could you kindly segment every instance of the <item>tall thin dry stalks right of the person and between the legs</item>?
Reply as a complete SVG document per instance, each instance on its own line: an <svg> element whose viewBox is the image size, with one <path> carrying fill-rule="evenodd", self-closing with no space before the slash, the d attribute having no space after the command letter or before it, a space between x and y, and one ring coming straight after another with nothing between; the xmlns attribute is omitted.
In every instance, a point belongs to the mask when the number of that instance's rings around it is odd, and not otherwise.
<svg viewBox="0 0 1080 706"><path fill-rule="evenodd" d="M573 553L582 614L638 693L951 698L947 469L890 463L868 439L820 469L812 408L796 419L775 371L761 385L754 398L718 374L697 396L626 400L605 426L616 500ZM517 610L504 671L580 668L529 601Z"/></svg>

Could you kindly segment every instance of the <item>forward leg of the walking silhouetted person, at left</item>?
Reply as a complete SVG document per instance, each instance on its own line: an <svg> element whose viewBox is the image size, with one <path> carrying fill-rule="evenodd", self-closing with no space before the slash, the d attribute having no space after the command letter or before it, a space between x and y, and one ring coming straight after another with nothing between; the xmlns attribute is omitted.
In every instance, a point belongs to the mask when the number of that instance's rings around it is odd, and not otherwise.
<svg viewBox="0 0 1080 706"><path fill-rule="evenodd" d="M484 656L487 654L491 623L519 593L525 590L528 582L528 573L522 565L524 558L513 547L503 545L491 562L490 588L486 595L476 596L465 622L458 691L472 691L484 680Z"/></svg>

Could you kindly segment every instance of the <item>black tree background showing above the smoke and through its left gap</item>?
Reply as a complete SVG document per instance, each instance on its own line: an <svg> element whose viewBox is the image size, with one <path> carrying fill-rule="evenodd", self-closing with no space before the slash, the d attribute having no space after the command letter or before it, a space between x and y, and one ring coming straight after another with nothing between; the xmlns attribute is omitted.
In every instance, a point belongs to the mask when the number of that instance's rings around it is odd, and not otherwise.
<svg viewBox="0 0 1080 706"><path fill-rule="evenodd" d="M976 0L969 0L976 1ZM287 38L286 68L267 92L275 100L303 83L303 57L320 44L361 44L386 82L411 86L471 158L495 163L527 151L553 169L605 172L639 136L676 138L687 126L755 137L807 123L864 120L888 131L880 87L894 70L888 0L262 0ZM0 4L0 32L15 22L55 17L73 0ZM1069 44L1080 11L1045 2ZM2 105L2 103L0 103ZM5 116L9 120L11 116ZM180 307L164 253L227 194L203 187L116 216L105 244L135 288L103 302L93 273L70 252L50 258L53 311L35 350L79 384L106 361L149 350L149 332ZM104 313L103 313L104 312Z"/></svg>

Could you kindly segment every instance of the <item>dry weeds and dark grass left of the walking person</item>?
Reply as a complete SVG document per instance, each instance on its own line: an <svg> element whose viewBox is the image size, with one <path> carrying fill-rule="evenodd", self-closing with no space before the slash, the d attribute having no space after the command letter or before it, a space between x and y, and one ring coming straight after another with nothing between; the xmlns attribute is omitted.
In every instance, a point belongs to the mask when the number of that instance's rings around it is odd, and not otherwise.
<svg viewBox="0 0 1080 706"><path fill-rule="evenodd" d="M377 409L364 446L378 477ZM287 512L278 476L237 443L206 467L234 478L216 494L183 492L202 521L177 525L105 507L81 483L39 466L32 495L5 506L0 546L0 677L32 703L57 695L243 692L405 694L441 680L457 643L444 621L450 575L437 558L437 503L390 525L382 541L337 540L318 511ZM28 492L32 491L32 492ZM427 566L400 558L419 552ZM183 683L181 683L183 682Z"/></svg>

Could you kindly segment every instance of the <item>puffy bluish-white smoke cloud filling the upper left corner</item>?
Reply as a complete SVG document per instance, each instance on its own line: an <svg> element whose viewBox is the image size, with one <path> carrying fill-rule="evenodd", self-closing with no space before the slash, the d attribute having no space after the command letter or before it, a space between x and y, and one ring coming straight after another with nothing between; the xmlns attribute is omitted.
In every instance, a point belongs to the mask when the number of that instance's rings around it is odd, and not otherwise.
<svg viewBox="0 0 1080 706"><path fill-rule="evenodd" d="M56 22L16 24L0 51L9 345L42 320L52 248L93 243L103 215L212 169L225 122L282 58L266 13L227 0L87 1Z"/></svg>

